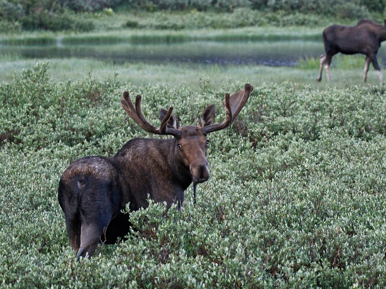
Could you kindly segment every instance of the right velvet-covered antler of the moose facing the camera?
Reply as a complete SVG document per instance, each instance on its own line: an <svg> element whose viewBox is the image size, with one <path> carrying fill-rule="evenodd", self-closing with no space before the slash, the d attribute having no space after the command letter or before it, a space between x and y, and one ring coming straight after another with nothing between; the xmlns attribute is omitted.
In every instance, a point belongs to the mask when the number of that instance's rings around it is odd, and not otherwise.
<svg viewBox="0 0 386 289"><path fill-rule="evenodd" d="M222 101L222 104L225 106L225 120L222 123L206 126L203 128L203 131L205 131L205 133L212 133L213 131L219 131L229 126L239 115L252 91L253 86L247 83L243 89L235 92L231 96L229 96L229 93L226 93L225 99Z"/></svg>

